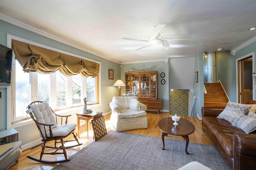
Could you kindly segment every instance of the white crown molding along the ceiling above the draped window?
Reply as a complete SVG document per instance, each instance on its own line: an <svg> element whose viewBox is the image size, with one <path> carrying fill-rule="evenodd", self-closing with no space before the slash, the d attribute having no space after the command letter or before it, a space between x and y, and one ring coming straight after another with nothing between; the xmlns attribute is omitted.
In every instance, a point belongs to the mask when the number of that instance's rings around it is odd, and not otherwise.
<svg viewBox="0 0 256 170"><path fill-rule="evenodd" d="M76 48L76 49L80 49L80 50L85 51L85 52L87 52L87 53L96 55L96 56L98 56L98 57L102 57L103 59L106 59L106 60L109 60L109 61L113 61L114 63L121 64L120 61L116 61L116 60L110 59L109 57L107 57L107 56L105 56L105 55L102 55L102 54L100 54L100 53L97 53L97 52L95 52L95 51L92 51L92 50L90 50L90 49L87 49L87 48L82 47L82 46L80 46L80 45L76 45L75 43L72 43L72 42L70 42L70 41L67 41L67 40L65 40L65 39L62 39L62 38L57 37L57 36L55 36L55 35L52 35L52 34L50 34L50 33L44 32L44 31L42 31L42 30L40 30L40 29L38 29L38 28L32 27L32 26L30 26L30 25L28 25L28 24L26 24L26 23L23 23L23 22L18 21L18 20L14 19L14 18L11 18L11 17L9 17L9 16L6 16L6 15L4 15L4 14L2 14L2 13L0 13L0 20L6 21L6 22L11 23L11 24L13 24L13 25L16 25L16 26L18 26L18 27L24 28L24 29L26 29L26 30L28 30L28 31L32 31L32 32L37 33L37 34L39 34L39 35L42 35L42 36L44 36L44 37L53 39L53 40L58 41L58 42L60 42L60 43L64 43L64 44L66 44L66 45L69 45L69 46L74 47L74 48Z"/></svg>

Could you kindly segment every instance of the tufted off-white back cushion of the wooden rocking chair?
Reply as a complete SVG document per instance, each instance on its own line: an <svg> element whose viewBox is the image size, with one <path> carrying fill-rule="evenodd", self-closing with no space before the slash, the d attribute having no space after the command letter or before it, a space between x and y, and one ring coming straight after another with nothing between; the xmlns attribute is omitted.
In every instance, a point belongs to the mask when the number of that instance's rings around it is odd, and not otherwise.
<svg viewBox="0 0 256 170"><path fill-rule="evenodd" d="M32 109L32 111L36 117L36 120L38 122L53 123L54 125L51 127L52 130L55 127L57 127L56 120L55 120L54 115L52 114L52 110L47 102L29 105L29 107ZM46 133L47 133L49 131L49 127L48 126L45 126L45 127L46 127ZM40 125L40 130L42 131L43 134L45 133L43 125Z"/></svg>

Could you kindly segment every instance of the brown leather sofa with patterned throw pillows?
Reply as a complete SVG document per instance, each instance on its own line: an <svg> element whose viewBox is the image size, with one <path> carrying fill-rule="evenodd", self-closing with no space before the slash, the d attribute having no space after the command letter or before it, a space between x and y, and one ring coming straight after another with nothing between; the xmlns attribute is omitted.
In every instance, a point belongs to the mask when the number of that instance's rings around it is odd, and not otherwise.
<svg viewBox="0 0 256 170"><path fill-rule="evenodd" d="M256 104L249 100L246 104ZM217 116L225 107L202 107L202 128L231 170L256 168L256 131L246 134Z"/></svg>

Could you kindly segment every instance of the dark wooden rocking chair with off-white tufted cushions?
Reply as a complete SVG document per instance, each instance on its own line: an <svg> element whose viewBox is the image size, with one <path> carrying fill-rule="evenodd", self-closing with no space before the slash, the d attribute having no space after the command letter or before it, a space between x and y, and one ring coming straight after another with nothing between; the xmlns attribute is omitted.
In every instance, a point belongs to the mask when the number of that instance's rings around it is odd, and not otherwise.
<svg viewBox="0 0 256 170"><path fill-rule="evenodd" d="M41 141L44 142L44 145L42 146L42 152L40 154L40 158L36 158L34 156L27 156L28 158L35 160L37 162L42 162L46 164L57 164L62 162L70 161L70 158L67 158L66 150L68 148L76 147L79 145L82 145L82 143L79 143L78 139L76 138L76 135L74 134L74 130L76 129L76 124L67 124L68 117L71 115L57 115L54 113L54 111L51 109L51 107L48 105L47 102L42 101L35 101L28 105L28 111L27 113L30 114L31 118L35 121L36 126L40 132ZM56 119L54 118L56 117ZM61 125L57 125L57 116L61 117ZM66 118L65 124L62 125L62 121ZM74 135L74 140L78 144L65 147L64 144L66 142L70 141L63 141L65 137L68 137L70 134ZM54 140L54 146L48 146L46 145L46 142L53 141ZM60 141L57 141L60 140ZM60 146L56 147L57 143L61 143ZM56 149L54 152L44 152L45 148L51 148ZM62 149L63 152L57 152L58 150ZM42 160L42 156L44 154L64 154L65 159L63 160Z"/></svg>

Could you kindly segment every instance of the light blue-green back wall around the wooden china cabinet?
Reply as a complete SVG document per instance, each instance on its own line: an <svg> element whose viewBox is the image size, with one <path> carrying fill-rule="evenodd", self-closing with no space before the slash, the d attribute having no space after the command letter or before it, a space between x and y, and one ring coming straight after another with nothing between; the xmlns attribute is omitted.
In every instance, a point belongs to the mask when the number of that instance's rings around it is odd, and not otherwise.
<svg viewBox="0 0 256 170"><path fill-rule="evenodd" d="M169 66L168 63L164 61L151 62L151 63L136 63L136 64L122 64L121 67L121 80L124 81L124 73L132 69L134 71L139 71L140 67L150 68L151 71L158 71L158 99L163 99L163 110L169 111ZM164 72L165 77L161 78L160 74ZM165 84L161 84L161 80L165 80ZM121 93L124 93L124 87L121 88Z"/></svg>

